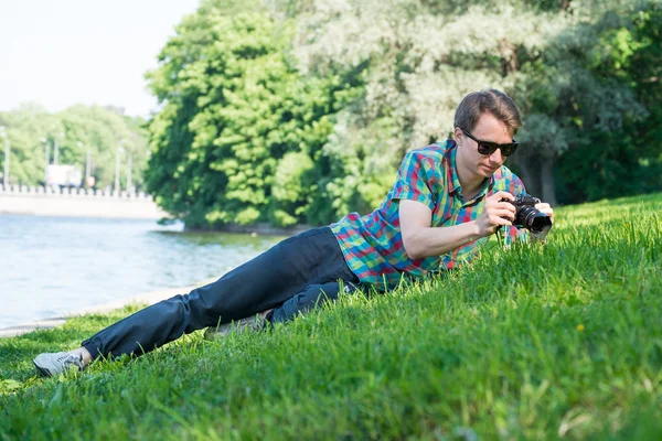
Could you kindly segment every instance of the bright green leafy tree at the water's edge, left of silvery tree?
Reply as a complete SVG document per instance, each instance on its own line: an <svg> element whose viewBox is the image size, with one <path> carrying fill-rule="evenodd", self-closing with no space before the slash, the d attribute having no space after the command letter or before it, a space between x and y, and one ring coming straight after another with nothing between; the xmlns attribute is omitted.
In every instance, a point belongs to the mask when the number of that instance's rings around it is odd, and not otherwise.
<svg viewBox="0 0 662 441"><path fill-rule="evenodd" d="M287 25L222 4L189 15L148 76L163 104L149 126L149 190L189 226L320 222L310 206L330 168L321 148L353 86L301 77Z"/></svg>

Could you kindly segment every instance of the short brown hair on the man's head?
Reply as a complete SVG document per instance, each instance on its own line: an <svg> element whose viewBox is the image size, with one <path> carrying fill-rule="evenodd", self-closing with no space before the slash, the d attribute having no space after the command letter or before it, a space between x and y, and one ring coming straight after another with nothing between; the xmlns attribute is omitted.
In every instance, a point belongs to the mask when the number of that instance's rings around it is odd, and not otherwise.
<svg viewBox="0 0 662 441"><path fill-rule="evenodd" d="M520 110L512 98L501 90L482 89L462 98L456 109L455 127L471 131L483 114L491 114L503 122L511 136L522 127Z"/></svg>

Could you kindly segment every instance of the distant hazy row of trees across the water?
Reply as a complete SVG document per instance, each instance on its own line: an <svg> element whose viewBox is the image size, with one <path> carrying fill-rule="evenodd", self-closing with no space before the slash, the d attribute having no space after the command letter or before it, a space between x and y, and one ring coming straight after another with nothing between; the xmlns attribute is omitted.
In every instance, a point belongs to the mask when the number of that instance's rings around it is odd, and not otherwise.
<svg viewBox="0 0 662 441"><path fill-rule="evenodd" d="M85 170L89 151L95 187L106 189L114 184L115 155L119 141L124 140L122 171L126 171L130 155L132 185L140 187L149 154L143 123L98 106L76 105L58 114L49 114L36 105L26 104L13 111L0 112L0 126L7 127L11 146L10 183L43 185L46 153L49 163L54 163L56 143L57 163L77 165L81 171ZM4 161L4 149L0 150ZM120 183L126 189L126 173Z"/></svg>

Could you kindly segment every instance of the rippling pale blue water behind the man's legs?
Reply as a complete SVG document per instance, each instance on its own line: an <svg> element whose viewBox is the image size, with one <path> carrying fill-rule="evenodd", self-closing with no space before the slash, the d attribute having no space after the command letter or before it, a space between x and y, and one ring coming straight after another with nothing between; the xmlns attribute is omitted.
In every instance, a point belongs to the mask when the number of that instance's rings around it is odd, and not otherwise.
<svg viewBox="0 0 662 441"><path fill-rule="evenodd" d="M204 282L279 239L151 220L0 216L0 329Z"/></svg>

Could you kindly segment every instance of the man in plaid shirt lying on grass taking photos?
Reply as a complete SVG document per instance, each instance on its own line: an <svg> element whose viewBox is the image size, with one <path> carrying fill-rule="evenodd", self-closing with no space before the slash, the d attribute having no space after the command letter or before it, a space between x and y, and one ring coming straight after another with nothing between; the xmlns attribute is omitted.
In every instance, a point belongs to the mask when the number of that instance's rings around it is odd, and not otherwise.
<svg viewBox="0 0 662 441"><path fill-rule="evenodd" d="M499 229L509 246L520 234L509 201L524 193L503 165L517 148L515 104L502 92L467 95L455 115L455 139L409 151L382 205L365 216L288 238L217 281L146 308L68 353L41 354L40 374L85 368L99 356L141 355L203 327L261 329L292 320L341 287L380 290L469 262ZM553 216L549 204L535 205ZM503 228L502 228L503 227Z"/></svg>

